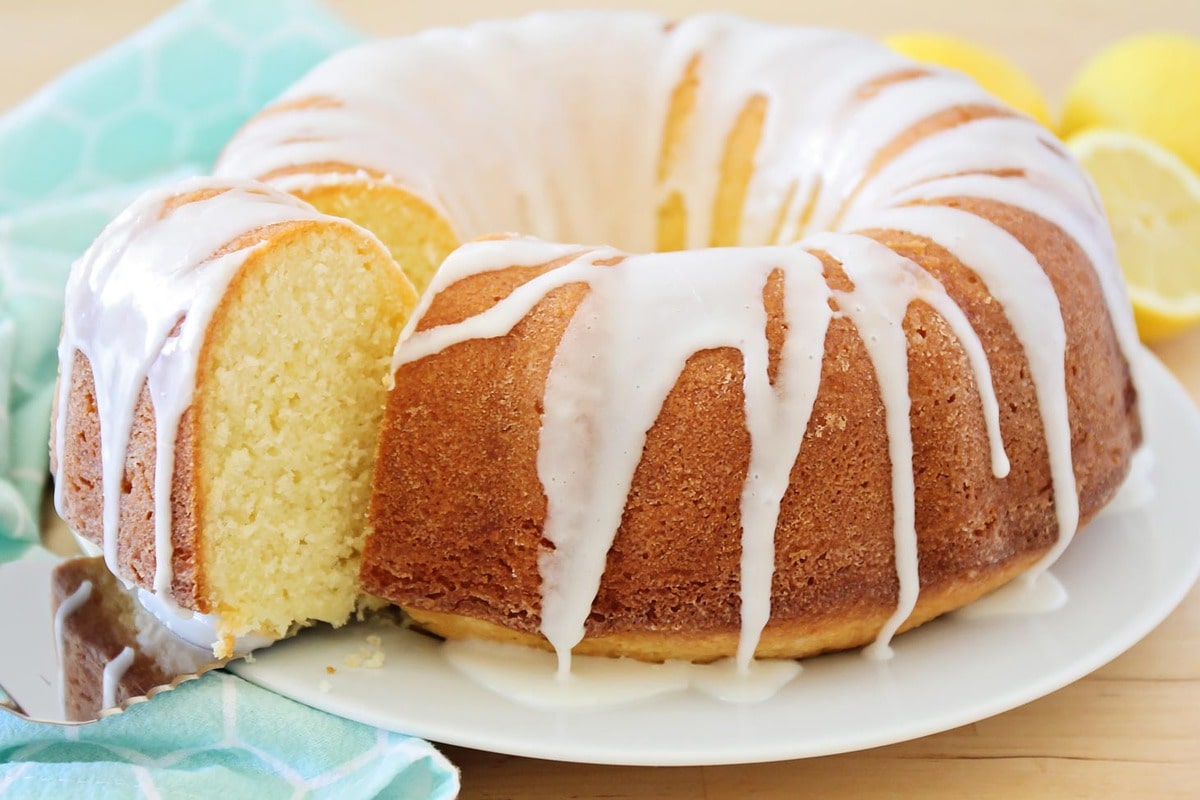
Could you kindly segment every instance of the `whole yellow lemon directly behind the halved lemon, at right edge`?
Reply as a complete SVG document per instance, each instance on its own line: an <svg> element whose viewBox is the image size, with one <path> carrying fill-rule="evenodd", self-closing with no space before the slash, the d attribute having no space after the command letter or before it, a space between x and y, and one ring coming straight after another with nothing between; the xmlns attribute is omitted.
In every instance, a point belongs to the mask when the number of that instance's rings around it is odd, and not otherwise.
<svg viewBox="0 0 1200 800"><path fill-rule="evenodd" d="M1116 128L1200 170L1200 38L1141 34L1093 56L1067 94L1062 136Z"/></svg>

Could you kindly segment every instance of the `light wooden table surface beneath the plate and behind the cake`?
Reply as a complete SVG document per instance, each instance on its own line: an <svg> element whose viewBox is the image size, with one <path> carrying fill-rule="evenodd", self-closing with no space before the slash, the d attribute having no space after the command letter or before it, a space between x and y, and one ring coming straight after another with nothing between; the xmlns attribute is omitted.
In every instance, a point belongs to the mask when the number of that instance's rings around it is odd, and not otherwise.
<svg viewBox="0 0 1200 800"><path fill-rule="evenodd" d="M247 0L250 1L250 0ZM0 112L59 71L167 8L164 0L0 2ZM528 0L335 0L378 34L534 7ZM593 1L577 5L600 5ZM869 34L932 29L1006 53L1061 98L1098 48L1150 29L1200 35L1196 0L757 0L608 2L673 14L733 8ZM102 11L101 11L102 10ZM1200 402L1200 330L1153 348ZM1094 674L1007 714L890 747L775 764L617 768L445 748L464 798L1200 798L1200 589L1153 633Z"/></svg>

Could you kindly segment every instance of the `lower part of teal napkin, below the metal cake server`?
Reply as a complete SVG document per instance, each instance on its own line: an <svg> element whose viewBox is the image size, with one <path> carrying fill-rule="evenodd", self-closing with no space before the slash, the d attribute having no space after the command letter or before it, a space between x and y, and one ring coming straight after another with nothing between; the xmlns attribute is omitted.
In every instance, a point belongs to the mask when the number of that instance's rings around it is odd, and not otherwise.
<svg viewBox="0 0 1200 800"><path fill-rule="evenodd" d="M226 673L80 728L7 720L0 720L4 798L457 793L454 769L420 739L313 711Z"/></svg>

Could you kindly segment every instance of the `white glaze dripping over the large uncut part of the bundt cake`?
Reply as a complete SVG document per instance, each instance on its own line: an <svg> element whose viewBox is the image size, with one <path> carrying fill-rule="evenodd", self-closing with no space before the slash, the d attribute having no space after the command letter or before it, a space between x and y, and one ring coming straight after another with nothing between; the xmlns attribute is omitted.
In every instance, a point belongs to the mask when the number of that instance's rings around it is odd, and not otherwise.
<svg viewBox="0 0 1200 800"><path fill-rule="evenodd" d="M661 121L694 61L700 83L692 124L673 149L671 169L660 176ZM364 74L372 79L362 80ZM866 88L874 92L864 92ZM1003 476L1008 467L990 369L965 315L930 276L854 230L890 228L932 240L970 265L1004 306L1037 391L1058 523L1056 545L1031 573L1036 581L1067 547L1079 517L1057 297L1034 257L996 224L962 210L911 204L952 194L994 198L1057 224L1091 258L1128 357L1135 333L1090 181L1040 127L1013 116L978 119L925 137L870 174L880 151L912 125L944 109L995 101L961 77L914 68L887 48L847 34L722 16L667 28L661 18L625 12L539 14L338 54L283 98L336 103L257 118L217 166L218 174L238 176L289 169L292 174L276 179L289 190L364 181L368 172L379 173L444 213L462 237L518 230L631 251L653 248L655 212L678 196L688 212L686 243L698 248L712 239L727 134L756 95L768 101L768 110L740 240L794 245L628 257L608 247L529 239L469 245L443 265L397 347L398 367L457 342L502 336L552 289L588 284L547 380L538 457L550 509L545 535L556 546L540 564L542 633L558 650L560 670L582 637L646 431L689 355L709 347L738 348L746 375L752 469L742 500L737 663L749 668L769 618L779 498L816 396L816 354L829 321L832 295L820 263L806 252L814 248L840 260L854 281L853 291L834 299L838 313L863 335L884 402L899 601L868 652L889 652L888 642L919 585L900 325L912 300L934 305L962 343L983 399L994 473ZM619 157L606 157L618 144ZM305 170L326 162L356 170L341 176ZM984 174L1014 169L1021 174ZM811 219L802 225L800 212L809 206ZM804 237L827 228L833 231ZM114 235L120 230L118 225ZM463 276L556 259L568 263L488 311L413 333L432 296ZM619 263L596 264L612 259ZM686 281L676 282L684 269ZM793 331L775 385L766 380L761 307L762 285L773 269L785 272L785 313ZM154 348L134 351L157 357ZM622 380L624 374L640 380ZM127 389L122 396L131 396ZM120 413L101 411L118 417L109 428L121 429ZM157 465L163 476L168 467ZM118 467L106 462L108 469ZM109 485L106 480L106 489ZM115 504L106 503L106 515L115 515L109 505ZM114 553L107 555L115 561ZM163 552L160 564L168 555Z"/></svg>

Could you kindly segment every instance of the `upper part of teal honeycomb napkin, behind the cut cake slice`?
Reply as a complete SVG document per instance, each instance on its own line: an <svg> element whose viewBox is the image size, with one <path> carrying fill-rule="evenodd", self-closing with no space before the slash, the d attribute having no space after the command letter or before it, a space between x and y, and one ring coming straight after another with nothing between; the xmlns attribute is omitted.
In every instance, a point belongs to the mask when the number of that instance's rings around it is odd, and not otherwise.
<svg viewBox="0 0 1200 800"><path fill-rule="evenodd" d="M206 169L251 114L359 38L314 0L193 0L0 120L0 559L38 537L71 263L148 184Z"/></svg>

